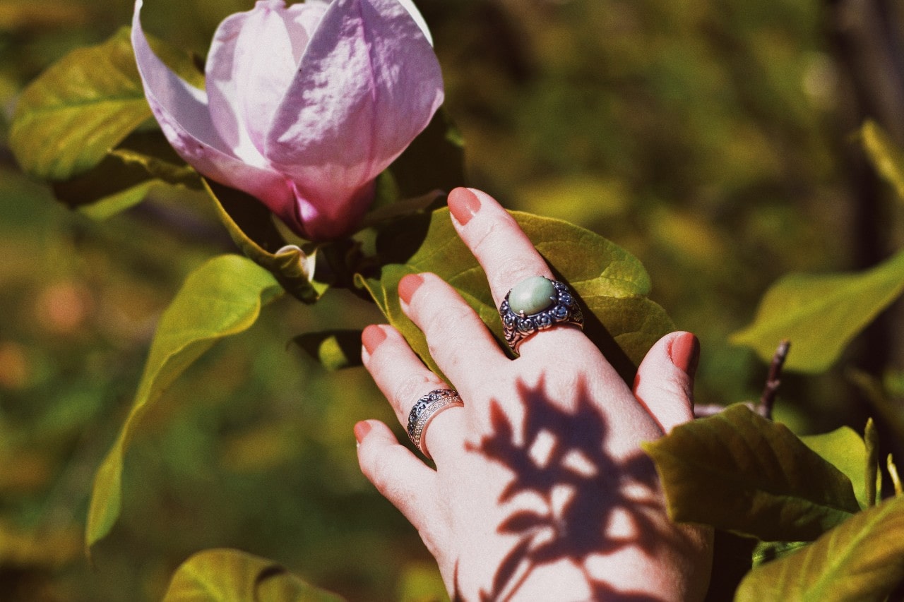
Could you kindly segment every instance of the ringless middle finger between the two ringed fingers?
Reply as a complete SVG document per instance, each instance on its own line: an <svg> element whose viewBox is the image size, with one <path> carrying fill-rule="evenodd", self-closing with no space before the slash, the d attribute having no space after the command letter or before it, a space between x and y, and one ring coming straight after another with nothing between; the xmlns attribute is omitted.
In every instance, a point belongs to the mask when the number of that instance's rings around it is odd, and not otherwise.
<svg viewBox="0 0 904 602"><path fill-rule="evenodd" d="M435 274L410 274L399 283L402 311L424 333L430 356L463 391L485 386L485 376L508 360L486 325Z"/></svg>

